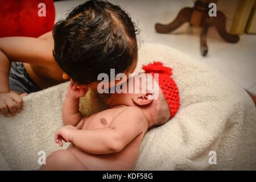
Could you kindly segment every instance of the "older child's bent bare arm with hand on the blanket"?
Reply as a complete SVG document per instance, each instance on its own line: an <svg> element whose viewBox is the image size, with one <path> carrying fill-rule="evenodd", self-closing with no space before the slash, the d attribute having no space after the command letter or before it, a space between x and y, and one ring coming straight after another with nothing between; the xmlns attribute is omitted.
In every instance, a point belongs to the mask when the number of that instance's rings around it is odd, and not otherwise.
<svg viewBox="0 0 256 182"><path fill-rule="evenodd" d="M15 115L22 110L23 100L16 93L10 93L10 61L51 67L55 63L52 54L53 39L27 37L0 38L0 113Z"/></svg>

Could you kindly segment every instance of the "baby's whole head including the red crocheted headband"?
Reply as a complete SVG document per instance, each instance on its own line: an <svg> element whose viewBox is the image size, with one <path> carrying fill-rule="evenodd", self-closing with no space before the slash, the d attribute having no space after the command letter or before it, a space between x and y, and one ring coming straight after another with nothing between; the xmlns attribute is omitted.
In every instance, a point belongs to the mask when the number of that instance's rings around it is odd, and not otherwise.
<svg viewBox="0 0 256 182"><path fill-rule="evenodd" d="M180 106L179 90L171 78L172 69L159 62L145 65L143 69L145 73L130 77L127 83L123 83L122 90L126 93L113 94L108 105L138 106L151 120L150 127L162 125L174 117ZM129 92L130 88L133 92Z"/></svg>

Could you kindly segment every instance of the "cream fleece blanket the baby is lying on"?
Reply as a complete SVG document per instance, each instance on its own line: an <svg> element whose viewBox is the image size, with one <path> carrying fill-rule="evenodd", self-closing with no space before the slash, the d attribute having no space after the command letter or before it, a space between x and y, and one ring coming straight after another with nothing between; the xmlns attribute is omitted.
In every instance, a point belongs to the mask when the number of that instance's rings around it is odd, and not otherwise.
<svg viewBox="0 0 256 182"><path fill-rule="evenodd" d="M159 44L139 49L137 72L150 61L174 69L180 90L180 109L165 125L143 139L135 169L256 169L256 110L245 90L199 61ZM38 152L49 155L60 147L53 135L63 123L61 106L68 83L24 98L22 113L0 117L0 169L38 169ZM104 109L89 92L81 111ZM65 146L67 147L67 145ZM217 164L209 164L209 152Z"/></svg>

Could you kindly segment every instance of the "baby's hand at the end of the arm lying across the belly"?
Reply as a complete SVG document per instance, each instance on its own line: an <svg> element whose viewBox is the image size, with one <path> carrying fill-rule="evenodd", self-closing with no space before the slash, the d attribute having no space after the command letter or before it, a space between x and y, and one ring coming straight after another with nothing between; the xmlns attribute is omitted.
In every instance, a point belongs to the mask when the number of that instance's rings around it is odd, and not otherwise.
<svg viewBox="0 0 256 182"><path fill-rule="evenodd" d="M77 130L77 128L72 125L61 127L61 129L55 133L55 137L54 137L55 142L59 143L61 147L63 146L63 141L72 142L72 137L71 137L72 130Z"/></svg>

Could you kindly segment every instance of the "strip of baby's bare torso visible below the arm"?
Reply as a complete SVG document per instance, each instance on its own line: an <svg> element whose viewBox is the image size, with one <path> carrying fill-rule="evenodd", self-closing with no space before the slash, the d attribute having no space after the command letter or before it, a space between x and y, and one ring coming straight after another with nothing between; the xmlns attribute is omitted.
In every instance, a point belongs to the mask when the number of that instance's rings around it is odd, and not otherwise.
<svg viewBox="0 0 256 182"><path fill-rule="evenodd" d="M68 150L72 152L89 170L133 170L139 155L139 146L128 144L121 152L112 154L89 154L71 144Z"/></svg>

